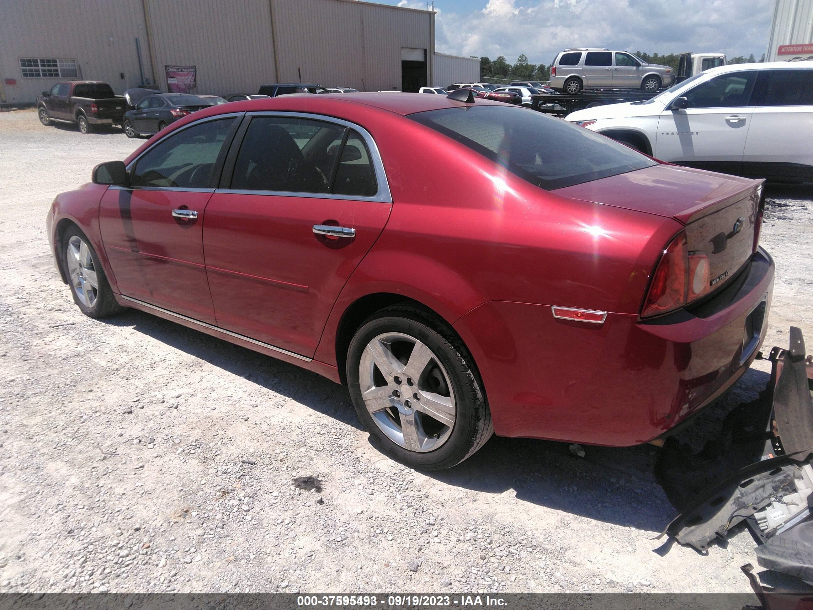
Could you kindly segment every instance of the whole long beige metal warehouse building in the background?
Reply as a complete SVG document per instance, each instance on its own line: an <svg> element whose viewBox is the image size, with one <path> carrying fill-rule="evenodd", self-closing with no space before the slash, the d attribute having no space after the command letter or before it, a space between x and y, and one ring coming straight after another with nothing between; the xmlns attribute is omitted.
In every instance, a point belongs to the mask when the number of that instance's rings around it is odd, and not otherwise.
<svg viewBox="0 0 813 610"><path fill-rule="evenodd" d="M166 91L166 66L194 66L194 92L217 95L479 78L478 59L435 53L434 16L356 0L2 0L0 102L33 102L72 79Z"/></svg>

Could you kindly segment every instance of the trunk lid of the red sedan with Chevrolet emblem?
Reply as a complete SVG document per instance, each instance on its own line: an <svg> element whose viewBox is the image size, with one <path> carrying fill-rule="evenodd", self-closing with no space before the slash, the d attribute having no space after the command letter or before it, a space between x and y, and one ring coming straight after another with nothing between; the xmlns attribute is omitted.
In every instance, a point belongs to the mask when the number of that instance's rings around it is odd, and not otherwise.
<svg viewBox="0 0 813 610"><path fill-rule="evenodd" d="M762 184L660 164L554 193L667 216L684 224L689 251L703 252L709 259L713 292L731 281L754 253Z"/></svg>

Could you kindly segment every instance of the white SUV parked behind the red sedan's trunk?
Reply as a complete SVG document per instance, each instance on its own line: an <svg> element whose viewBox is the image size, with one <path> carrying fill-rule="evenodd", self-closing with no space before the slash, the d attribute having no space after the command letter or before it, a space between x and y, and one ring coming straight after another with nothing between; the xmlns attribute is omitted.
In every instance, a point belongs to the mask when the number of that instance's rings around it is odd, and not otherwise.
<svg viewBox="0 0 813 610"><path fill-rule="evenodd" d="M646 102L566 119L663 161L813 181L813 61L712 68Z"/></svg>

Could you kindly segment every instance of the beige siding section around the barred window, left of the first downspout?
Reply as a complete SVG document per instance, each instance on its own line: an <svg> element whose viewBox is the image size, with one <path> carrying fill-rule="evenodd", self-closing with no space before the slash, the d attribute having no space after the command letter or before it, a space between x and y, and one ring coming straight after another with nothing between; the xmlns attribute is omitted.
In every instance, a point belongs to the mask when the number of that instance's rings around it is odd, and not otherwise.
<svg viewBox="0 0 813 610"><path fill-rule="evenodd" d="M20 58L76 59L80 77L107 81L117 94L141 85L136 54L141 39L145 76L150 56L141 0L2 0L0 2L0 78L9 103L33 102L61 78L24 78ZM124 79L120 77L124 73Z"/></svg>

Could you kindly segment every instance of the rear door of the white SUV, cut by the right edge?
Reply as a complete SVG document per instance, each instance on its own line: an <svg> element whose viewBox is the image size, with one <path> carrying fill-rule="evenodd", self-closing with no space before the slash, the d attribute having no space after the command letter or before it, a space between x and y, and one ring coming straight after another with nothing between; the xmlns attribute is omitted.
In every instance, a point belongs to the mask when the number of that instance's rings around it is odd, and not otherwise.
<svg viewBox="0 0 813 610"><path fill-rule="evenodd" d="M744 169L793 176L813 172L813 69L761 70L754 86ZM794 166L804 165L806 168ZM767 175L767 174L766 174Z"/></svg>

